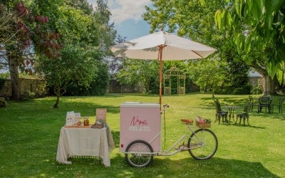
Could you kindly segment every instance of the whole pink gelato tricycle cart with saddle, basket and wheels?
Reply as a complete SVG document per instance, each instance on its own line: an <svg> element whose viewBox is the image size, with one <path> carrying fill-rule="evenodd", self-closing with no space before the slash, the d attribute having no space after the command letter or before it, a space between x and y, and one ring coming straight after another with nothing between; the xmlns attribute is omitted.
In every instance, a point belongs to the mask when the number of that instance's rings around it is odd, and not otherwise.
<svg viewBox="0 0 285 178"><path fill-rule="evenodd" d="M168 105L163 105L165 109ZM208 120L182 119L185 134L168 150L161 149L161 111L157 103L122 103L120 105L120 152L133 167L147 167L154 156L171 156L188 151L195 159L209 159L217 151L217 137Z"/></svg>

